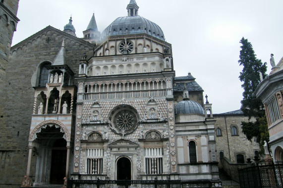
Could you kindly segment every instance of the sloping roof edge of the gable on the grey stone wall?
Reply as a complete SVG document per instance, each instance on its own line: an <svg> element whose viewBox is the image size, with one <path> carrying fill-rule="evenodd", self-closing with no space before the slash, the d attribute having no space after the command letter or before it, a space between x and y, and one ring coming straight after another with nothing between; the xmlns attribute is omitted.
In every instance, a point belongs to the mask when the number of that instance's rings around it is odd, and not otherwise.
<svg viewBox="0 0 283 188"><path fill-rule="evenodd" d="M14 45L14 46L12 46L10 51L12 51L12 50L14 50L14 49L16 49L18 47L21 47L21 46L27 44L28 42L32 41L33 39L36 39L36 38L40 37L41 35L45 34L47 31L56 32L57 34L59 34L61 36L64 36L64 37L66 37L66 38L68 38L70 40L74 40L74 41L76 41L78 43L81 43L81 44L83 44L85 46L92 47L92 48L95 47L95 45L93 45L93 44L91 44L91 43L89 43L87 41L84 41L84 40L82 40L80 38L77 38L75 36L67 34L67 33L65 33L65 32L63 32L61 30L58 30L58 29L56 29L56 28L54 28L54 27L49 25L46 28L42 29L41 31L33 34L32 36L26 38L25 40L19 42L18 44Z"/></svg>

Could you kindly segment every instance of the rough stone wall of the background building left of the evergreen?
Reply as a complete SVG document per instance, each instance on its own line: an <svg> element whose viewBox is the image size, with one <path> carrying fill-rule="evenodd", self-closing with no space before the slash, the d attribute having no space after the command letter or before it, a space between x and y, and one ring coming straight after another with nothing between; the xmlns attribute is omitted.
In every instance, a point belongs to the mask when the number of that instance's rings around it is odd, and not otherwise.
<svg viewBox="0 0 283 188"><path fill-rule="evenodd" d="M240 115L222 115L214 114L215 133L217 128L221 129L222 136L216 136L217 157L220 161L219 152L223 151L224 156L232 163L236 163L236 155L243 154L244 160L247 158L254 158L254 152L259 151L259 143L256 140L248 141L246 136L242 133L241 122L248 121L248 117ZM251 119L251 121L253 121ZM237 128L238 136L231 135L231 127ZM219 166L221 168L221 164Z"/></svg>

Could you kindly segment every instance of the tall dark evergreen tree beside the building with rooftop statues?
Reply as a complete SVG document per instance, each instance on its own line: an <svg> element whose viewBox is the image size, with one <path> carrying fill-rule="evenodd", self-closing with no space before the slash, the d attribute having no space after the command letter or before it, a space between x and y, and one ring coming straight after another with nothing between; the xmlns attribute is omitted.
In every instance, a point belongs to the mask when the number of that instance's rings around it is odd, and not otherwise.
<svg viewBox="0 0 283 188"><path fill-rule="evenodd" d="M244 116L249 117L249 122L242 122L242 131L248 140L251 141L253 137L256 137L257 142L263 145L265 140L269 141L265 109L262 101L256 98L253 93L260 83L260 72L263 78L266 77L267 66L266 62L262 63L260 59L256 58L252 45L247 39L242 38L240 43L242 46L238 62L243 66L243 70L240 72L239 78L243 82L242 88L244 89L241 109ZM251 117L254 117L256 121L251 122Z"/></svg>

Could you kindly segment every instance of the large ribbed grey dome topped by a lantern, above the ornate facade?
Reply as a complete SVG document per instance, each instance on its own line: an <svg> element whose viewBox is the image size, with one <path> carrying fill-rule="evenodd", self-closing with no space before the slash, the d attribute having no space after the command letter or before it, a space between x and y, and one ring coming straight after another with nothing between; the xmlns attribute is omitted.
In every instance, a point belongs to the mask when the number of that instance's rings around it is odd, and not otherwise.
<svg viewBox="0 0 283 188"><path fill-rule="evenodd" d="M125 16L115 19L101 34L100 41L115 35L145 33L165 41L161 28L141 16Z"/></svg>

